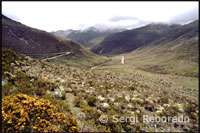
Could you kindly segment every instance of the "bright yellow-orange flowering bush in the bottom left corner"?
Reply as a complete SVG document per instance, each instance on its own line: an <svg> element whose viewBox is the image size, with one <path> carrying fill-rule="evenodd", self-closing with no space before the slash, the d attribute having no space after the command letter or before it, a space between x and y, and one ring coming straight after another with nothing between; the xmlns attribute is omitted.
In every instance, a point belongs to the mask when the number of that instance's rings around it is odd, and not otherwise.
<svg viewBox="0 0 200 133"><path fill-rule="evenodd" d="M25 132L77 132L77 119L58 112L50 101L26 94L2 99L2 129Z"/></svg>

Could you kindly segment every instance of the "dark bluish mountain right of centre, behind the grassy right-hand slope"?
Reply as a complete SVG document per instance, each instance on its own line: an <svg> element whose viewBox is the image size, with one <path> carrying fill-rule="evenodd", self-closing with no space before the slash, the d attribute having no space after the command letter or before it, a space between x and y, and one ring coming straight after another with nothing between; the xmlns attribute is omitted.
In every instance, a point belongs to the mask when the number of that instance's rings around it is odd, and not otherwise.
<svg viewBox="0 0 200 133"><path fill-rule="evenodd" d="M91 50L97 54L121 54L144 46L180 25L149 24L133 30L111 34Z"/></svg>

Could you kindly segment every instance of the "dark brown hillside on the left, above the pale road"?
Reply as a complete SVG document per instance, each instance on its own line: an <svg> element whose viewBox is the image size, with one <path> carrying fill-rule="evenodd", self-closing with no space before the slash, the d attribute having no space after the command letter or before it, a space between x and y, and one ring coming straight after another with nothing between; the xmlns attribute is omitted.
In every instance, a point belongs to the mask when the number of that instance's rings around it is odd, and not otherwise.
<svg viewBox="0 0 200 133"><path fill-rule="evenodd" d="M39 59L70 52L69 55L54 59L54 61L59 59L60 62L65 63L72 60L78 63L79 58L81 58L81 61L86 59L87 63L91 64L90 61L98 62L103 59L73 40L28 27L3 15L2 46Z"/></svg>

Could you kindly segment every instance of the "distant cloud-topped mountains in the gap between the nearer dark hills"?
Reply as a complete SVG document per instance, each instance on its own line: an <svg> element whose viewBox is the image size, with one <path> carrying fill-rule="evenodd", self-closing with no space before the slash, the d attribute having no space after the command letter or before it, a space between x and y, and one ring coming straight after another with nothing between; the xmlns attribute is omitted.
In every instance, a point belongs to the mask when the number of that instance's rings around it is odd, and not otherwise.
<svg viewBox="0 0 200 133"><path fill-rule="evenodd" d="M83 31L81 30L66 30L66 31L56 31L56 32L51 32L54 35L70 38L74 41L77 41L78 43L82 44L86 48L90 48L93 46L93 43L88 43L89 41L101 37L101 36L106 36L111 33L116 33L123 31L122 29L113 29L113 30L105 30L105 31L100 31L95 27L89 27Z"/></svg>

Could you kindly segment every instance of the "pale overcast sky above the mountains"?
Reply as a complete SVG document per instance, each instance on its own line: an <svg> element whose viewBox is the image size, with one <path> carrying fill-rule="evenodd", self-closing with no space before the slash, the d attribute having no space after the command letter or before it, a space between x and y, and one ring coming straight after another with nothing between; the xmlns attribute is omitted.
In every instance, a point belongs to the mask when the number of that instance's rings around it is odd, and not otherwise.
<svg viewBox="0 0 200 133"><path fill-rule="evenodd" d="M2 2L2 13L45 31L94 26L136 28L149 23L186 24L198 19L196 2Z"/></svg>

